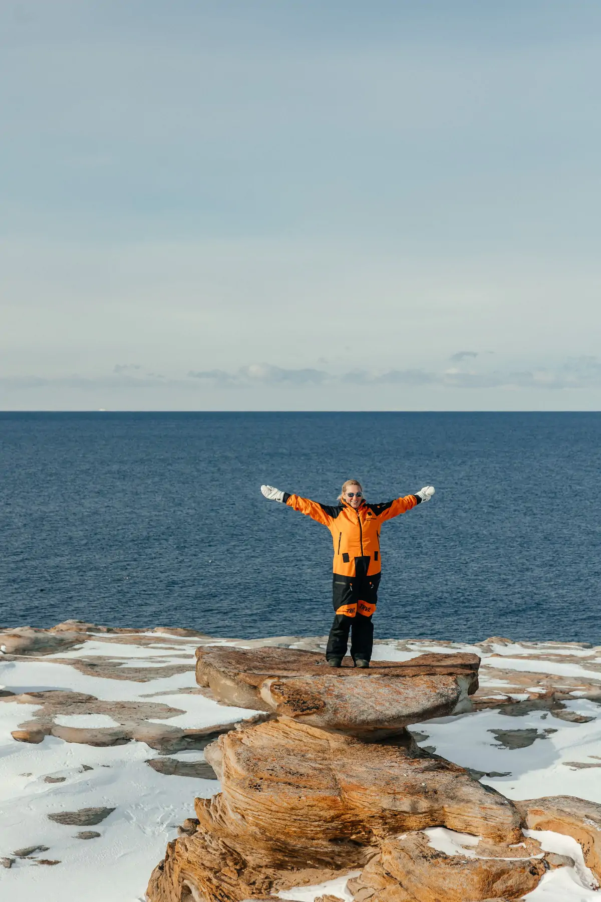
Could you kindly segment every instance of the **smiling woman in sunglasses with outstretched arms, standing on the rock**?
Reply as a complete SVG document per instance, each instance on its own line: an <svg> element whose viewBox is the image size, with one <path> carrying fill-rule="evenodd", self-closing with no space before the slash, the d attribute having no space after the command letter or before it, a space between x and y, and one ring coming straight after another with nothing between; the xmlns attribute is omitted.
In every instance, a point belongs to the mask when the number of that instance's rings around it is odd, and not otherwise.
<svg viewBox="0 0 601 902"><path fill-rule="evenodd" d="M381 525L385 520L410 511L416 504L430 501L433 486L425 485L414 495L405 495L392 502L368 504L363 498L361 483L347 479L335 506L280 492L273 485L261 485L261 492L270 501L287 504L323 523L332 533L335 615L325 658L330 667L341 667L351 630L351 658L355 667L369 667L374 638L371 617L378 602L381 575Z"/></svg>

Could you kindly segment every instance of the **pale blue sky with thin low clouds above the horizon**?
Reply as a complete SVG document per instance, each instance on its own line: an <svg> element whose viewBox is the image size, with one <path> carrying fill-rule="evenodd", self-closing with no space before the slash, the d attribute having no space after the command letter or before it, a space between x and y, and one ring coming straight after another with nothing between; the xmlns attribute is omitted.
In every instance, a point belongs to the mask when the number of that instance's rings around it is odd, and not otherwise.
<svg viewBox="0 0 601 902"><path fill-rule="evenodd" d="M598 0L0 0L1 410L599 410Z"/></svg>

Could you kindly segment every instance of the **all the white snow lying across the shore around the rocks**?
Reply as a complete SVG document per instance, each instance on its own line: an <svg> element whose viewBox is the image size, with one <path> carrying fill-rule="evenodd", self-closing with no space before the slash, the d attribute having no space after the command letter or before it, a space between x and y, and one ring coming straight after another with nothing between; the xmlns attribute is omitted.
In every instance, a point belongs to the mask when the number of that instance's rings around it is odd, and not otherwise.
<svg viewBox="0 0 601 902"><path fill-rule="evenodd" d="M5 660L0 655L0 683L17 694L66 689L94 695L105 702L166 704L184 713L157 718L152 723L184 729L232 723L252 716L254 712L250 710L221 705L198 694L193 669L199 644L243 648L248 643L172 637L154 632L143 635L144 641L148 637L155 641L144 645L140 644L138 633L120 634L113 639L111 634L103 633L90 635L76 648L43 658L11 656ZM308 641L298 640L294 644L307 647ZM322 638L313 641L317 647ZM460 643L439 645L427 640L385 640L376 643L374 660L410 660L429 651L478 654L482 658L480 685L491 686L491 695L499 701L506 695L519 700L542 692L541 686L516 686L512 674L520 672L557 676L553 682L556 688L563 683L561 677L576 677L601 687L601 671L587 667L598 662L599 649L578 646L513 642L480 647ZM566 659L547 660L548 656L559 655ZM79 658L117 659L122 664L119 674L123 677L127 676L126 668L131 667L148 668L147 676L155 672L156 676L137 682L82 674L70 663L76 664ZM186 672L161 676L160 667L187 662L190 668ZM493 667L501 676L490 675ZM417 723L411 729L424 733L427 739L421 744L433 746L444 758L484 773L506 773L506 777L482 777L481 782L510 798L568 795L601 803L601 768L569 767L569 762L574 761L601 764L597 757L601 754L601 707L578 697L587 692L586 686L563 688L572 693L572 699L564 703L567 711L593 720L569 723L546 710L507 716L499 709L485 708ZM36 704L0 702L0 857L11 857L14 850L25 846L43 844L49 846L49 851L37 857L58 860L60 864L38 865L33 855L31 859L15 861L10 870L0 868L0 898L14 897L20 902L38 902L41 896L44 902L80 902L81 899L142 902L150 872L163 858L167 843L177 836L178 824L194 816L195 796L212 796L219 791L218 781L157 773L146 763L147 759L158 757L157 752L142 742L95 748L55 737L46 737L37 745L14 741L11 732L19 724L34 719L40 710ZM57 714L54 720L74 727L116 725L107 714ZM525 748L506 748L496 740L494 732L524 730L535 731L538 736ZM182 761L204 759L201 751L182 751L171 757ZM84 765L89 769L84 769ZM45 778L53 782L46 782ZM82 828L54 824L46 816L95 806L115 809L101 824L91 828L101 834L96 839L77 839ZM425 833L434 848L447 854L476 854L474 846L478 837L442 827ZM529 835L539 839L543 849L568 854L576 863L574 868L547 873L528 900L585 902L599 898L591 888L593 876L584 864L577 842L556 833ZM358 873L353 871L316 887L280 892L279 897L313 902L323 893L332 893L351 902L346 882Z"/></svg>

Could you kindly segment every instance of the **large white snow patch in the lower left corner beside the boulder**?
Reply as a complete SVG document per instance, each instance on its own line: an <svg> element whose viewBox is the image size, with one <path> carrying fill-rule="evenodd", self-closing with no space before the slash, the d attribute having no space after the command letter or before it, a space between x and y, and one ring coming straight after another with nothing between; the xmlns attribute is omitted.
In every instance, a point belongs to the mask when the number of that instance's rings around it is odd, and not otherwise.
<svg viewBox="0 0 601 902"><path fill-rule="evenodd" d="M21 902L143 899L150 872L177 836L177 825L194 816L194 797L212 796L217 781L158 774L145 763L154 752L139 742L106 749L53 737L40 745L16 743L8 730L27 718L27 707L0 706L0 854L43 844L49 851L38 857L61 863L44 867L35 859L17 860L0 871L0 897ZM84 764L92 769L83 770ZM49 775L65 781L45 783ZM93 840L77 839L80 828L53 824L46 816L96 806L115 811L93 828L101 834Z"/></svg>

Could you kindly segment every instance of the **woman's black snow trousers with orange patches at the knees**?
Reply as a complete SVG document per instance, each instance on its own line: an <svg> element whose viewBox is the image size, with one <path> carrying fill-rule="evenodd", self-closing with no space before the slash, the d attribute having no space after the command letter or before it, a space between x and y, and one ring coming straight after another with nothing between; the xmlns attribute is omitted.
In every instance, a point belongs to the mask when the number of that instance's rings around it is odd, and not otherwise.
<svg viewBox="0 0 601 902"><path fill-rule="evenodd" d="M351 658L369 661L374 643L371 621L378 603L380 574L333 575L332 603L335 611L325 657L344 658L351 632Z"/></svg>

